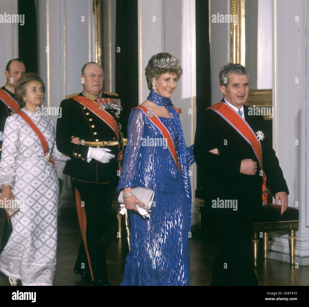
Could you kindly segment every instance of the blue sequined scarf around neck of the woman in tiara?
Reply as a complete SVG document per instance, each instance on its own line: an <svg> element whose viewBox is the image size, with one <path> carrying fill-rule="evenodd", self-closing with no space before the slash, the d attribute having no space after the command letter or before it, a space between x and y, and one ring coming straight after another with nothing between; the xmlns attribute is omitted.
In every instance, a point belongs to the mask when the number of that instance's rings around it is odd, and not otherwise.
<svg viewBox="0 0 309 307"><path fill-rule="evenodd" d="M189 163L188 163L188 151L186 142L184 140L184 134L182 132L182 127L179 119L179 115L176 113L176 111L173 108L173 104L171 102L171 99L165 98L160 96L155 91L151 91L147 97L147 100L154 103L156 106L165 106L169 110L171 117L173 119L173 122L178 130L178 148L179 148L179 162L181 166L181 175L182 175L182 181L184 183L184 190L186 193L186 196L188 197L188 206L190 208L191 212L191 183L190 179L188 177L188 170L189 170Z"/></svg>

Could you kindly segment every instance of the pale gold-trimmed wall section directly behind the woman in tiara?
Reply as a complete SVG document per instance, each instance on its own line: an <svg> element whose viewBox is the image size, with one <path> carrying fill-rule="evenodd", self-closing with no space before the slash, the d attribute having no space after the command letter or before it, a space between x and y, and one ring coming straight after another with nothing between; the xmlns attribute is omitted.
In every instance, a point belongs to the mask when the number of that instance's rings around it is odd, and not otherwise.
<svg viewBox="0 0 309 307"><path fill-rule="evenodd" d="M145 67L151 56L168 52L180 58L183 75L180 77L172 102L182 108L180 120L187 146L194 143L196 128L196 52L195 52L195 0L139 0L139 103L146 100ZM197 223L194 205L196 164L190 167L192 185L192 225Z"/></svg>

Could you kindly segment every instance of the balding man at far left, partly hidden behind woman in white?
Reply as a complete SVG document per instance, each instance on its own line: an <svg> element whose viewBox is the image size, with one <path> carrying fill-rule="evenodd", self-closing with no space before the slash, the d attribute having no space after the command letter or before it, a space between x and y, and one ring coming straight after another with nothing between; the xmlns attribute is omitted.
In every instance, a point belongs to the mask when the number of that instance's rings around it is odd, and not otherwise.
<svg viewBox="0 0 309 307"><path fill-rule="evenodd" d="M26 71L25 65L22 60L12 59L6 65L5 76L6 85L2 86L0 90L0 159L2 152L2 141L3 141L3 130L6 118L11 114L19 110L19 104L15 101L15 86L18 79ZM7 240L9 239L12 232L12 225L10 223L10 218L7 218L4 222L4 230L1 239L0 253L6 246Z"/></svg>

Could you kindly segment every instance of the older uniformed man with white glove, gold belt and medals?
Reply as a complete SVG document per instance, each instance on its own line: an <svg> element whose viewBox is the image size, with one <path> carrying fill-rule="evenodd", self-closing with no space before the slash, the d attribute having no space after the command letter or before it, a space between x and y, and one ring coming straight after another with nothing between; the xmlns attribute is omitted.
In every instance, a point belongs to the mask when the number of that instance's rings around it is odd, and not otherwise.
<svg viewBox="0 0 309 307"><path fill-rule="evenodd" d="M116 93L102 93L104 73L89 62L82 68L82 93L61 102L57 120L57 148L71 157L64 173L71 177L82 242L74 272L95 285L108 285L105 248L111 205L121 170L123 136ZM81 139L80 144L71 141Z"/></svg>

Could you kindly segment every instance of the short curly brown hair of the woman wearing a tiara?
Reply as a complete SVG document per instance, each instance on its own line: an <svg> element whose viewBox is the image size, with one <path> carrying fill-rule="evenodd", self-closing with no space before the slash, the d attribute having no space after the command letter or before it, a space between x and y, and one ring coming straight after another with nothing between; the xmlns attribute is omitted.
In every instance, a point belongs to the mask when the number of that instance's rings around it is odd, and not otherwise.
<svg viewBox="0 0 309 307"><path fill-rule="evenodd" d="M153 78L155 79L159 79L159 77L163 74L163 73L175 73L177 78L179 79L180 76L182 75L182 68L180 65L178 66L171 66L171 67L164 67L164 68L160 68L160 67L155 67L153 65L153 59L167 59L167 58L171 58L172 55L167 53L167 52L159 52L155 55L153 55L150 60L148 61L148 64L145 68L145 75L146 75L146 81L147 81L147 86L148 89L151 91L152 90L152 80Z"/></svg>

